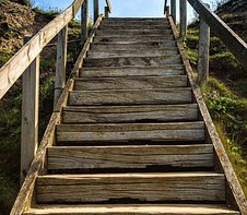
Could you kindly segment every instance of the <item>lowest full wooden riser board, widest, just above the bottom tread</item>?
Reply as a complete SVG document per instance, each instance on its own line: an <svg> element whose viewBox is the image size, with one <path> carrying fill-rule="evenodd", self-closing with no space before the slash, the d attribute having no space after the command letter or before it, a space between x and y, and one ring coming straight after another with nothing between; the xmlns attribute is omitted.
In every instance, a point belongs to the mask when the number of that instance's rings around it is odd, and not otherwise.
<svg viewBox="0 0 247 215"><path fill-rule="evenodd" d="M225 201L214 172L49 175L37 177L38 203Z"/></svg>

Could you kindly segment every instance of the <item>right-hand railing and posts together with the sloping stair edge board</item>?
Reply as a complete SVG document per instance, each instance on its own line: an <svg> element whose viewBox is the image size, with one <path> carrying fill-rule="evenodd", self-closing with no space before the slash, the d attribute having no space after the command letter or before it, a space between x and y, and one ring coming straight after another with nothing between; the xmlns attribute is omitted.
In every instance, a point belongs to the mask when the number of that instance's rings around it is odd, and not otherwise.
<svg viewBox="0 0 247 215"><path fill-rule="evenodd" d="M172 13L175 11L176 4L172 2ZM216 132L213 121L210 117L208 108L203 101L203 96L200 92L198 84L205 83L209 76L209 46L210 46L210 27L213 33L225 44L230 51L236 57L242 65L247 69L247 45L240 39L215 13L213 13L209 5L204 4L201 0L188 0L192 8L200 15L200 38L199 38L199 59L198 59L198 83L195 81L192 68L189 63L189 59L184 48L184 39L187 32L187 0L179 0L180 2L180 27L179 33L176 26L176 16L169 14L168 7L165 4L165 12L168 21L172 25L173 33L177 40L178 50L181 55L181 60L185 65L185 70L188 74L188 80L191 85L195 99L201 112L201 117L204 119L208 140L210 140L214 146L216 155L215 170L224 171L227 184L227 204L236 207L240 211L242 215L247 215L247 200L237 176L233 169L230 158L225 152L224 145ZM167 3L167 2L165 2Z"/></svg>

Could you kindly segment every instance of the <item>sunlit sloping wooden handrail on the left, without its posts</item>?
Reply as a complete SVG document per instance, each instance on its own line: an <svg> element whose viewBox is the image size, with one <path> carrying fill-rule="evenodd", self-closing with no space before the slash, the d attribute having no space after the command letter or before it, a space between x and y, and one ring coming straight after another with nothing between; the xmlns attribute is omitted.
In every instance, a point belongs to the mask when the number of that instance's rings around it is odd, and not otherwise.
<svg viewBox="0 0 247 215"><path fill-rule="evenodd" d="M73 19L85 0L75 0L24 45L0 69L0 99L39 56L44 47Z"/></svg>

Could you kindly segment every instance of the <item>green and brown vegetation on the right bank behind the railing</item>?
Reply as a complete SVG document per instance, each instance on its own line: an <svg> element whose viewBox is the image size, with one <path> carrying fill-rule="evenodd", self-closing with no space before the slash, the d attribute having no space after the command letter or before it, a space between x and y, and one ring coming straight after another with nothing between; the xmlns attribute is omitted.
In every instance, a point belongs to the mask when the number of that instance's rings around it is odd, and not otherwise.
<svg viewBox="0 0 247 215"><path fill-rule="evenodd" d="M220 5L222 4L220 3ZM222 16L226 23L237 19L231 13L224 13ZM240 25L244 25L243 22L238 23L237 27ZM201 89L221 140L247 195L247 157L244 157L245 152L247 152L247 74L234 56L213 34L211 34L210 43L211 77L208 85L202 86ZM198 63L198 44L199 21L195 20L189 25L188 37L185 41L195 71Z"/></svg>

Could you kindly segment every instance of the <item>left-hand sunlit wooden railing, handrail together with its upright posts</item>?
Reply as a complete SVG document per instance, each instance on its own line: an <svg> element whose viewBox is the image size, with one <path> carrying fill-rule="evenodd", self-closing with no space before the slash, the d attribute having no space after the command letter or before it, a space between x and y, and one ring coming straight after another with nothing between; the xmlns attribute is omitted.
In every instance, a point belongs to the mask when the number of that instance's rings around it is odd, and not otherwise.
<svg viewBox="0 0 247 215"><path fill-rule="evenodd" d="M106 13L111 11L106 0ZM39 104L39 55L43 49L58 36L55 96L56 106L66 85L68 24L75 17L80 8L81 41L85 43L87 31L89 0L74 0L61 14L55 17L35 36L26 37L24 46L0 69L0 99L11 86L23 75L22 92L22 136L21 136L21 184L38 147L38 104ZM96 12L97 13L96 13ZM98 19L98 0L94 0L95 20Z"/></svg>

